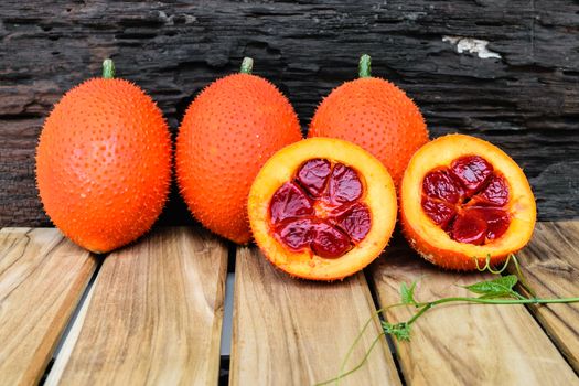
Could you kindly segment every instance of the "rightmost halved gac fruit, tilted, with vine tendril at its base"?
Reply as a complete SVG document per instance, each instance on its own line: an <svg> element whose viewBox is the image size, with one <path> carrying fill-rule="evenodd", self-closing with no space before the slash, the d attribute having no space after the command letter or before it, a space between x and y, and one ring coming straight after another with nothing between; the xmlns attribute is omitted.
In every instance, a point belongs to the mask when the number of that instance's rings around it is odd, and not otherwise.
<svg viewBox="0 0 579 386"><path fill-rule="evenodd" d="M427 260L473 270L503 262L533 235L535 197L523 170L494 144L440 137L411 158L400 190L403 229ZM478 260L478 261L476 261Z"/></svg>

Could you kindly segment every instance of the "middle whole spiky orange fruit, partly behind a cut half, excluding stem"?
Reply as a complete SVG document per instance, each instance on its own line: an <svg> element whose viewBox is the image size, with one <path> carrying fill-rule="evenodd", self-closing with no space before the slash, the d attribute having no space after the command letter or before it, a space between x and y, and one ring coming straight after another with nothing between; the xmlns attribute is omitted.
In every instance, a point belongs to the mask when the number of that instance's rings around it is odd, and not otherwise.
<svg viewBox="0 0 579 386"><path fill-rule="evenodd" d="M193 215L237 244L251 238L247 194L267 159L302 139L288 99L249 74L217 79L193 100L176 139L176 176Z"/></svg>

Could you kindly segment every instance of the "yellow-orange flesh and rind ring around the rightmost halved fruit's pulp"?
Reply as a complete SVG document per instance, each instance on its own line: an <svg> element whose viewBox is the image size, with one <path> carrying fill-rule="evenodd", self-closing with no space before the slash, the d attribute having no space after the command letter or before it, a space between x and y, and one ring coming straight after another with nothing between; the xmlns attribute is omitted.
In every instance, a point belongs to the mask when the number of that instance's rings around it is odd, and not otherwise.
<svg viewBox="0 0 579 386"><path fill-rule="evenodd" d="M421 192L425 175L463 156L476 154L489 161L508 183L511 224L500 238L486 245L459 243L437 226L422 211ZM533 236L537 210L535 196L523 170L505 152L482 139L448 135L439 137L411 158L399 190L400 223L410 246L428 261L451 270L475 270L505 261L521 250ZM476 261L478 260L478 261Z"/></svg>

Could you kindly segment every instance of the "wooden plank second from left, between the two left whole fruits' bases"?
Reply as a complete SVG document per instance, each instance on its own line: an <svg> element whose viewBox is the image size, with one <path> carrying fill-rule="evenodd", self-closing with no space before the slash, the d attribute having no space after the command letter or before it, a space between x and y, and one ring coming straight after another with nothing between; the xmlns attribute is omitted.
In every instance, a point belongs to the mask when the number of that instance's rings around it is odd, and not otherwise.
<svg viewBox="0 0 579 386"><path fill-rule="evenodd" d="M224 244L192 228L112 253L49 383L216 385L226 271Z"/></svg>

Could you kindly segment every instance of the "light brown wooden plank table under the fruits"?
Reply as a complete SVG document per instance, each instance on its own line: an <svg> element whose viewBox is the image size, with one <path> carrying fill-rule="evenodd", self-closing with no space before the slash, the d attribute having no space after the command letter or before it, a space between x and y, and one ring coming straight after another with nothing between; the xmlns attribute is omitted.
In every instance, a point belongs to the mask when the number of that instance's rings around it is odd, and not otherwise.
<svg viewBox="0 0 579 386"><path fill-rule="evenodd" d="M539 296L579 294L578 245L579 222L538 224L518 257ZM228 261L234 334L225 358ZM376 309L399 301L401 282L419 278L416 297L429 300L464 294L458 285L489 276L439 270L399 239L365 275L320 283L194 228L156 229L104 259L56 229L4 228L0 384L217 385L229 366L230 385L311 385L339 374L369 321L345 369L364 357L382 331ZM378 337L340 385L579 385L578 315L579 304L440 305L412 326L410 342Z"/></svg>

